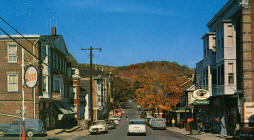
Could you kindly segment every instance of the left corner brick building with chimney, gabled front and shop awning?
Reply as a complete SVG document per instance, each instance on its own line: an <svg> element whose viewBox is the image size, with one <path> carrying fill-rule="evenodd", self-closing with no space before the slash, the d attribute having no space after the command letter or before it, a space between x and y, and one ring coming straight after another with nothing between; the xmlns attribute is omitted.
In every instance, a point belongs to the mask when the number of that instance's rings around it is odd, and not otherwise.
<svg viewBox="0 0 254 140"><path fill-rule="evenodd" d="M33 89L24 86L25 117L41 119L46 128L54 128L57 122L72 118L75 112L69 104L68 50L63 36L57 35L53 27L51 35L12 37L25 49L8 36L0 37L0 57L4 60L0 62L0 70L5 73L0 80L6 81L0 89L0 105L4 106L0 112L19 115L25 67L34 65L39 72L38 84ZM13 119L0 116L1 123L9 123Z"/></svg>

